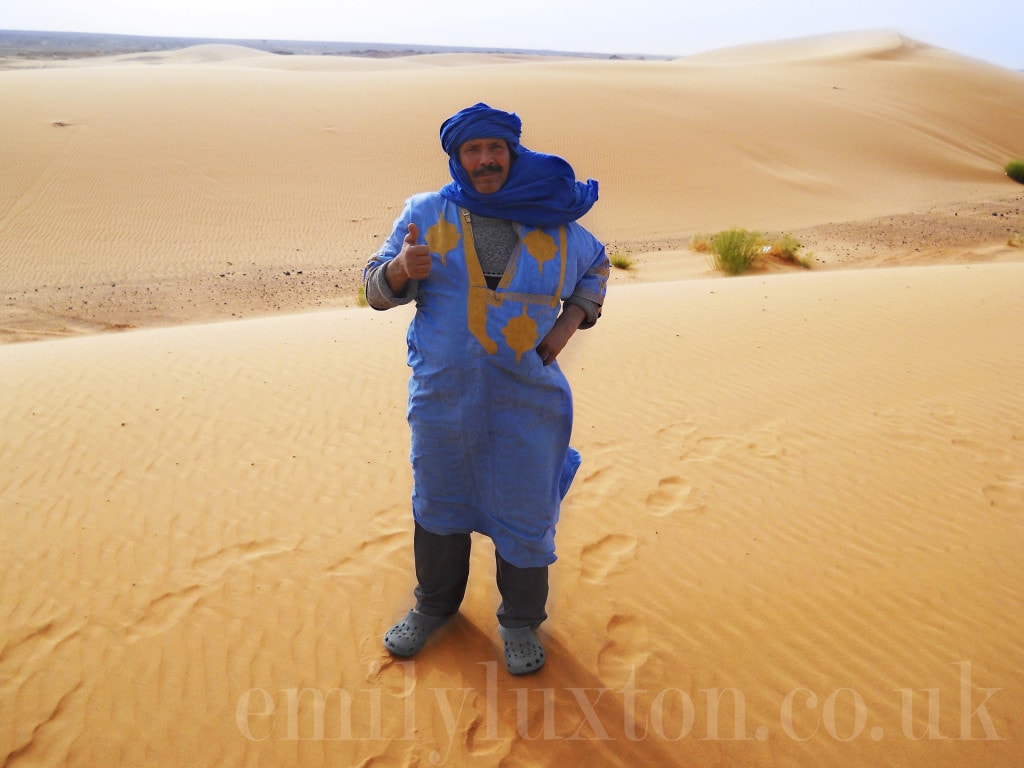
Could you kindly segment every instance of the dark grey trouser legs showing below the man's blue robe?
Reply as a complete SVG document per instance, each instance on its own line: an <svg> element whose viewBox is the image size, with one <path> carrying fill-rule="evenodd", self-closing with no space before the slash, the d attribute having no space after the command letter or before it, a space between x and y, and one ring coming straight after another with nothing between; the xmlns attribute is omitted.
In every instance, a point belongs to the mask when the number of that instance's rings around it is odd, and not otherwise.
<svg viewBox="0 0 1024 768"><path fill-rule="evenodd" d="M446 616L459 610L469 583L470 535L431 534L419 523L413 540L416 555L416 609ZM495 552L498 592L498 623L509 629L537 628L548 617L548 566L520 568Z"/></svg>

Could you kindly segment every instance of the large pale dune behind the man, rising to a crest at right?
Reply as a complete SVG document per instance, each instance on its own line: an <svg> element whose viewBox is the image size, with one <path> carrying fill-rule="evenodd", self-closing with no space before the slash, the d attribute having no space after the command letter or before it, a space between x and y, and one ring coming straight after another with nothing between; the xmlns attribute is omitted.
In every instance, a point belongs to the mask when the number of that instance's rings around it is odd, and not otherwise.
<svg viewBox="0 0 1024 768"><path fill-rule="evenodd" d="M754 61L202 46L160 65L0 72L17 105L2 118L0 328L351 304L404 198L445 179L437 126L477 99L517 110L526 145L599 179L588 224L635 253L1017 194L1001 168L1024 140L1024 76L895 35L829 40ZM808 57L829 45L843 55Z"/></svg>

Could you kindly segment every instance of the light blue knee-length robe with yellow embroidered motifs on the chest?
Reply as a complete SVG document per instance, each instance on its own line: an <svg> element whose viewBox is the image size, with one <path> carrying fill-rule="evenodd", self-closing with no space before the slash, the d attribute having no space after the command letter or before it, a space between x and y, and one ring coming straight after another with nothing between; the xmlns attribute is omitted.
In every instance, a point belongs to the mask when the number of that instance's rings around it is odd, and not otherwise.
<svg viewBox="0 0 1024 768"><path fill-rule="evenodd" d="M578 223L517 225L518 251L490 290L466 216L436 193L411 198L369 265L398 255L410 222L433 261L407 336L413 514L434 534L484 534L513 565L548 565L580 455L568 382L536 349L562 299L603 301L607 256Z"/></svg>

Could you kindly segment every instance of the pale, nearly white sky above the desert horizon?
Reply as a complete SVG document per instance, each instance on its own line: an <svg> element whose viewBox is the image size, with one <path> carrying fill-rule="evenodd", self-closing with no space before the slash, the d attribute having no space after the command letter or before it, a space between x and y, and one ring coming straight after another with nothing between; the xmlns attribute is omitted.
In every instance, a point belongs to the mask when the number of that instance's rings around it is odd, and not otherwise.
<svg viewBox="0 0 1024 768"><path fill-rule="evenodd" d="M678 56L885 29L1024 69L1024 0L2 0L0 29Z"/></svg>

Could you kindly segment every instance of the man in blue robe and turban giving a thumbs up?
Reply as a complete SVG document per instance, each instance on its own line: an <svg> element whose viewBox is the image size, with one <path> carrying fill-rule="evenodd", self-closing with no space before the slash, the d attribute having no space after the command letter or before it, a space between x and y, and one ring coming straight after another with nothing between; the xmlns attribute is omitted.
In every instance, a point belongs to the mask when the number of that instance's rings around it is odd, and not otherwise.
<svg viewBox="0 0 1024 768"><path fill-rule="evenodd" d="M597 201L561 158L519 143L521 121L478 103L444 121L452 182L411 198L364 272L376 309L416 301L409 328L416 607L384 645L412 656L456 613L470 534L492 539L510 673L545 663L559 504L580 465L556 358L597 322L604 247L575 220Z"/></svg>

